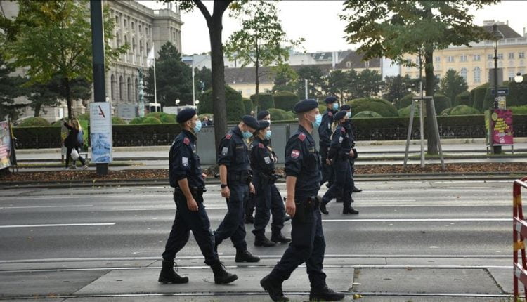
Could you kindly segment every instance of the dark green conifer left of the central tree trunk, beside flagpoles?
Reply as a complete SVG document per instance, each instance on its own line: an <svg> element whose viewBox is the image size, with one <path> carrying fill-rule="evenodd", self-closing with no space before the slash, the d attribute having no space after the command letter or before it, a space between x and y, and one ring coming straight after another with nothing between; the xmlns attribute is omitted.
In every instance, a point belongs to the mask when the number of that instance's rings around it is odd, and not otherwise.
<svg viewBox="0 0 527 302"><path fill-rule="evenodd" d="M174 106L176 99L180 105L192 105L192 69L181 61L181 54L174 44L167 42L160 48L159 58L155 60L157 99L164 106ZM154 102L154 67L150 67L145 77L146 99Z"/></svg>

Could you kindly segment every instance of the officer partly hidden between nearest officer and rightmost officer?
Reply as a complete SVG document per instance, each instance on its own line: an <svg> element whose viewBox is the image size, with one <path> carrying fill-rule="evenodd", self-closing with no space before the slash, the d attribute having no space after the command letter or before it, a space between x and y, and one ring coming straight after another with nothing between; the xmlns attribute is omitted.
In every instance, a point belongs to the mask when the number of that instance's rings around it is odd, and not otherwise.
<svg viewBox="0 0 527 302"><path fill-rule="evenodd" d="M329 187L333 183L334 175L333 168L326 164L327 150L331 144L331 125L333 124L334 114L339 110L339 103L334 96L328 96L324 102L327 104L327 110L324 112L322 122L318 128L318 137L320 139L320 157L322 157L322 181L323 184L327 181Z"/></svg>

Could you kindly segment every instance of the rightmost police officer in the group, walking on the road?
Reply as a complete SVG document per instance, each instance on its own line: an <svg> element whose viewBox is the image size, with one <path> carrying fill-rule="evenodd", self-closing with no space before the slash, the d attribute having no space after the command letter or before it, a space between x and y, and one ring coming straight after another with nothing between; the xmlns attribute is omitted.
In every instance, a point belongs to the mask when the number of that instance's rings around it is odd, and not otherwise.
<svg viewBox="0 0 527 302"><path fill-rule="evenodd" d="M322 204L320 204L320 211L327 215L329 212L326 205L337 197L338 194L344 202L344 209L342 214L358 214L358 211L351 207L351 191L353 188L353 178L351 178L351 166L349 164L350 157L353 157L353 150L351 149L351 138L349 132L344 127L346 120L346 111L340 111L334 116L332 124L333 134L331 136L330 149L327 152L327 164L334 167L336 177L330 189L327 190L322 197Z"/></svg>

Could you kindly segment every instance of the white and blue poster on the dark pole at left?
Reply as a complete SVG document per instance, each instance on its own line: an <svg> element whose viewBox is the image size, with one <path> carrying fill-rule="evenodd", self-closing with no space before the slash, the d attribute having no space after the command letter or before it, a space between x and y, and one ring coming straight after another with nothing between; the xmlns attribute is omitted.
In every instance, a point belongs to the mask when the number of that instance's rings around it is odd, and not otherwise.
<svg viewBox="0 0 527 302"><path fill-rule="evenodd" d="M112 117L110 103L90 104L91 161L112 162Z"/></svg>

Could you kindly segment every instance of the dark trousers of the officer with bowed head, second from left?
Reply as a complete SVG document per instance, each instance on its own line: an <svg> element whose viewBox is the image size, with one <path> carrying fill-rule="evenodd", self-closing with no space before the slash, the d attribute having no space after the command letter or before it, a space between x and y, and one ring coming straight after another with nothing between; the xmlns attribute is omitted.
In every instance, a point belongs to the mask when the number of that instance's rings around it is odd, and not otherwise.
<svg viewBox="0 0 527 302"><path fill-rule="evenodd" d="M214 237L216 237L216 244L221 244L223 240L230 237L236 249L245 250L247 242L245 242L243 201L249 195L249 186L247 183L237 181L228 181L227 184L230 190L230 198L226 198L227 214L214 232Z"/></svg>

